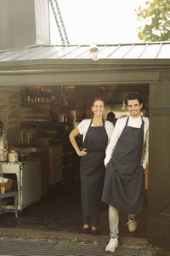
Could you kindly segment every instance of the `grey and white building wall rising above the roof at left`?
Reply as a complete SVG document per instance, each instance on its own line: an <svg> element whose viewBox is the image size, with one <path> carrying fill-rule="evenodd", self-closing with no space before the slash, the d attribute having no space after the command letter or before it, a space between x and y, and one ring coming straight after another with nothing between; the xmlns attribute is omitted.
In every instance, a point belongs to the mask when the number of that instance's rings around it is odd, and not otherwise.
<svg viewBox="0 0 170 256"><path fill-rule="evenodd" d="M49 42L48 0L0 0L0 49Z"/></svg>

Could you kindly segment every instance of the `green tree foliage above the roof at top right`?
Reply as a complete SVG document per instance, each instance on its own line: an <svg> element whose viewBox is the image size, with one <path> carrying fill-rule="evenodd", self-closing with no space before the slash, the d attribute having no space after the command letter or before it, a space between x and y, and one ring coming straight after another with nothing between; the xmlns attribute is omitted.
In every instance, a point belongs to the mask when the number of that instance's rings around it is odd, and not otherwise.
<svg viewBox="0 0 170 256"><path fill-rule="evenodd" d="M139 39L143 41L170 40L170 0L149 0L144 8L139 6L137 19L144 22L139 27Z"/></svg>

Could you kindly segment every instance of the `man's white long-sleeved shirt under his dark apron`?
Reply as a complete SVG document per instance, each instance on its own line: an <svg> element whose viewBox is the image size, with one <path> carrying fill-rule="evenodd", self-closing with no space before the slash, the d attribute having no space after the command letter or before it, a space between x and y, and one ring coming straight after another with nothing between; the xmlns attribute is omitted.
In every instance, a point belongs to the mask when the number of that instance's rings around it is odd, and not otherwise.
<svg viewBox="0 0 170 256"><path fill-rule="evenodd" d="M144 120L144 148L145 148L145 150L144 150L144 158L143 158L142 166L145 169L146 166L148 166L148 159L149 159L149 119L147 117L143 116L143 120ZM126 122L127 122L127 117L116 120L116 125L115 125L114 131L112 133L110 143L108 144L108 146L106 148L105 165L107 165L108 162L111 160L111 156L116 147L116 143L122 134L122 131L126 125ZM128 126L140 128L141 124L142 124L141 116L137 119L133 119L132 117L129 116L128 124L127 124Z"/></svg>

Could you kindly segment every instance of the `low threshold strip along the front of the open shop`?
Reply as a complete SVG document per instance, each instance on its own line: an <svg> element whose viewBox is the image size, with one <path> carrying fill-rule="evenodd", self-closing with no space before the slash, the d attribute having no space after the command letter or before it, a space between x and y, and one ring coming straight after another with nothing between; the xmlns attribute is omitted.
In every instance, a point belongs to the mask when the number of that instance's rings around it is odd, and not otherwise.
<svg viewBox="0 0 170 256"><path fill-rule="evenodd" d="M12 239L12 240L27 240L27 241L65 241L65 242L80 242L90 244L103 244L104 247L110 240L110 236L90 236L81 235L79 233L69 233L61 231L42 231L42 230L24 230L24 229L9 229L0 228L0 239ZM121 237L119 240L120 247L138 248L138 255L170 255L170 251L167 254L159 254L162 248L154 247L150 245L144 238L134 237ZM161 250L161 251L160 251ZM158 254L156 254L158 253ZM1 254L0 254L1 255ZM1 255L2 256L2 255Z"/></svg>

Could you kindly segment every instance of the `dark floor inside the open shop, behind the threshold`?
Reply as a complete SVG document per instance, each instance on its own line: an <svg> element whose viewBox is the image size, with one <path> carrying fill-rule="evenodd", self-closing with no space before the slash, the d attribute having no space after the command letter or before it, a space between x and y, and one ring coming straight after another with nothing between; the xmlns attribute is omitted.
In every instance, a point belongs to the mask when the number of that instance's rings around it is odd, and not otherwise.
<svg viewBox="0 0 170 256"><path fill-rule="evenodd" d="M57 184L49 189L49 195L41 201L19 212L0 216L0 229L18 229L34 231L57 231L80 234L82 230L82 208L80 184ZM120 212L120 237L145 238L147 222L147 202L144 212L137 216L138 229L130 233L127 230L127 215ZM103 212L99 220L99 232L109 237L108 212Z"/></svg>

